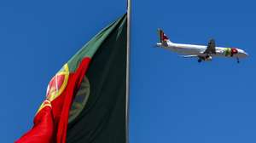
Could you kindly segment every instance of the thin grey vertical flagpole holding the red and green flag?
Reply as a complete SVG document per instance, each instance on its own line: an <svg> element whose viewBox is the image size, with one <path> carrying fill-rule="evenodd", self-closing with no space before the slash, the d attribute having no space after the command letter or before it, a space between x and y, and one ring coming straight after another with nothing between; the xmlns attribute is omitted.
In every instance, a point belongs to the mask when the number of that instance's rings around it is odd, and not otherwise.
<svg viewBox="0 0 256 143"><path fill-rule="evenodd" d="M129 94L130 94L130 43L131 43L131 0L127 0L127 49L126 49L126 143L129 143Z"/></svg>

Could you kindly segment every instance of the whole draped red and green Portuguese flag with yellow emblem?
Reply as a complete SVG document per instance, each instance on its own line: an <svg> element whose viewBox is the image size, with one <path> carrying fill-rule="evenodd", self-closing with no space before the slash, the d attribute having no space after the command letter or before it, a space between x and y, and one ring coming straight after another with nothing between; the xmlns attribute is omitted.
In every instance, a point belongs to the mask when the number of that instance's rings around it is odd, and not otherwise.
<svg viewBox="0 0 256 143"><path fill-rule="evenodd" d="M127 14L100 31L48 85L17 143L125 143Z"/></svg>

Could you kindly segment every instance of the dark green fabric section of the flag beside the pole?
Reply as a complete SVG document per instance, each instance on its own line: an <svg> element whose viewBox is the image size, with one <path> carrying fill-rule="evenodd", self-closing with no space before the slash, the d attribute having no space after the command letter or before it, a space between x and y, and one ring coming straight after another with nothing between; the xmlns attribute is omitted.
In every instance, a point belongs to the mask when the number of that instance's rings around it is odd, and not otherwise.
<svg viewBox="0 0 256 143"><path fill-rule="evenodd" d="M87 51L97 49L86 54L90 57L94 54L85 74L88 80L84 80L86 87L90 87L87 89L90 91L84 93L90 94L88 99L84 98L86 104L79 104L84 105L82 111L68 124L67 143L126 142L126 43L125 14L84 46ZM85 51L83 48L79 52ZM77 64L79 60L73 59L72 62Z"/></svg>

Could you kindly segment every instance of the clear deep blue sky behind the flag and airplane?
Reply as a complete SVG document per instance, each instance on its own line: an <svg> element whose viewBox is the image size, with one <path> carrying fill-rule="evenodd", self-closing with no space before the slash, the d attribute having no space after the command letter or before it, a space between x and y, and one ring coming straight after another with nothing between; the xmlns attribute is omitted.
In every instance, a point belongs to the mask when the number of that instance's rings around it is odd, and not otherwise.
<svg viewBox="0 0 256 143"><path fill-rule="evenodd" d="M0 1L0 139L32 127L55 72L96 32L125 13L125 0ZM256 3L136 1L131 21L131 143L256 142ZM197 63L154 48L156 29L176 43L245 49L250 57Z"/></svg>

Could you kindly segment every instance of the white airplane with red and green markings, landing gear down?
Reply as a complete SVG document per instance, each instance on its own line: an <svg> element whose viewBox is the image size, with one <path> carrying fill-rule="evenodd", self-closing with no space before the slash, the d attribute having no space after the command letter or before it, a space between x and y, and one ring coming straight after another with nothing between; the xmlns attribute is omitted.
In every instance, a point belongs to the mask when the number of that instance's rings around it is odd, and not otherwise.
<svg viewBox="0 0 256 143"><path fill-rule="evenodd" d="M236 58L237 63L240 62L240 58L245 58L248 54L242 49L236 48L223 48L216 47L214 39L211 39L207 46L183 44L183 43L172 43L166 36L164 31L158 29L160 36L160 43L156 43L157 47L164 49L171 49L173 52L183 54L184 58L198 58L198 62L211 61L212 57L230 57Z"/></svg>

